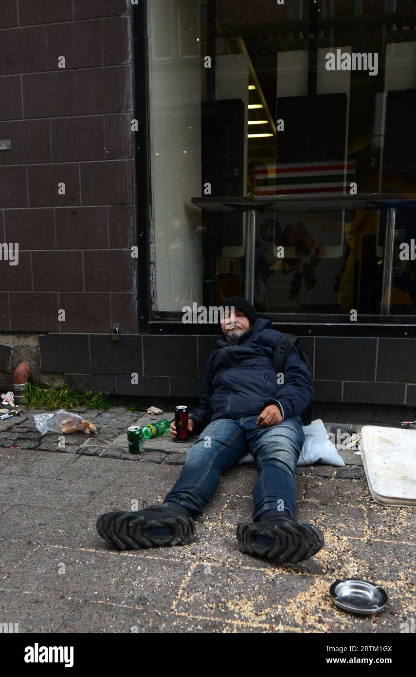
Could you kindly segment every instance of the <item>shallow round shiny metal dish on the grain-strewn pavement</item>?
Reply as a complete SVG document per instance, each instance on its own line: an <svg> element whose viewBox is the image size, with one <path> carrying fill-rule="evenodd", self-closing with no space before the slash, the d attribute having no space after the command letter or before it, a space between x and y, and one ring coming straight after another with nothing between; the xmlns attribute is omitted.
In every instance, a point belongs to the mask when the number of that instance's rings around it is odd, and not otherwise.
<svg viewBox="0 0 416 677"><path fill-rule="evenodd" d="M384 588L356 578L334 581L329 594L338 607L352 613L379 613L388 603Z"/></svg>

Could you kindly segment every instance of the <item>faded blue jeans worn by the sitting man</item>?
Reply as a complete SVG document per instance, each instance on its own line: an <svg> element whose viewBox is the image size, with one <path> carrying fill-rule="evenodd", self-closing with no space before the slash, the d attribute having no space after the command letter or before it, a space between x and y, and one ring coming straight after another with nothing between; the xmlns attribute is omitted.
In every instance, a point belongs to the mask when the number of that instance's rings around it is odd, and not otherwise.
<svg viewBox="0 0 416 677"><path fill-rule="evenodd" d="M187 453L181 475L164 501L185 506L193 517L200 515L214 496L221 475L250 450L258 468L253 521L273 509L286 508L295 517L295 468L305 440L300 416L270 427L256 425L257 418L212 421Z"/></svg>

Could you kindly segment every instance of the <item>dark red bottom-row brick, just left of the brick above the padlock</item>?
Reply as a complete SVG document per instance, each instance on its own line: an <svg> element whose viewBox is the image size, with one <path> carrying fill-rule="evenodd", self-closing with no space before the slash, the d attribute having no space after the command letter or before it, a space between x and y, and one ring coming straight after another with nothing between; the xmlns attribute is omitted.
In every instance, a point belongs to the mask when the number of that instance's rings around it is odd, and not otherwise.
<svg viewBox="0 0 416 677"><path fill-rule="evenodd" d="M111 332L110 294L60 294L62 332Z"/></svg>

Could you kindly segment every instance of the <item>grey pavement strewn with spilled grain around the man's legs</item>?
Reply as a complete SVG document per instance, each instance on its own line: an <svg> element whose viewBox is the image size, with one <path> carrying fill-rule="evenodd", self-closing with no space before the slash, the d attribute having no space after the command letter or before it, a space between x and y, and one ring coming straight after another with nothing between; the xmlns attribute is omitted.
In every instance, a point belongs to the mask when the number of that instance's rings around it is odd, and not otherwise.
<svg viewBox="0 0 416 677"><path fill-rule="evenodd" d="M118 552L97 535L97 516L162 502L190 446L159 437L133 456L126 428L172 414L84 410L98 435L66 435L62 445L41 437L33 413L0 422L0 623L18 622L20 632L361 633L401 632L415 619L416 509L373 502L353 452L341 452L343 468L297 468L296 517L325 533L308 561L277 565L239 551L250 466L225 473L191 544ZM333 605L333 580L356 576L386 588L383 613Z"/></svg>

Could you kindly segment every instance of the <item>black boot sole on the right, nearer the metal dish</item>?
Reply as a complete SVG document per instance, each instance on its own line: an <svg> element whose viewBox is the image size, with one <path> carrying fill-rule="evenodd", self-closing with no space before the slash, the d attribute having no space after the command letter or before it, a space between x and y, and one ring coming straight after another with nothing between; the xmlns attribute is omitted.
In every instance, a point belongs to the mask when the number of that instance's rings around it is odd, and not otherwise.
<svg viewBox="0 0 416 677"><path fill-rule="evenodd" d="M257 543L258 536L271 538L273 543L271 545ZM239 523L237 540L241 552L267 557L272 562L278 563L296 563L309 559L321 550L325 543L321 529L292 521L269 525L262 524L261 521Z"/></svg>

